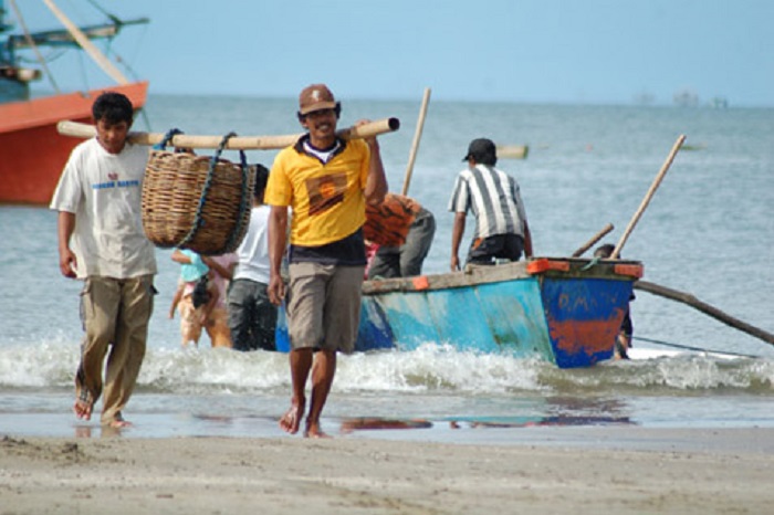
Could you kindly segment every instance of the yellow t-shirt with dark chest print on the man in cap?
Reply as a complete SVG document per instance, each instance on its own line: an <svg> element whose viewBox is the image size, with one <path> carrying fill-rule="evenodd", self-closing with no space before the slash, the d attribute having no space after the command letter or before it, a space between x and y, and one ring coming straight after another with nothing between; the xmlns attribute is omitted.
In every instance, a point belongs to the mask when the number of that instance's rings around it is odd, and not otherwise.
<svg viewBox="0 0 774 515"><path fill-rule="evenodd" d="M351 235L365 223L363 191L370 154L362 139L341 141L343 148L323 165L303 150L302 141L274 159L264 202L292 208L292 244L320 246Z"/></svg>

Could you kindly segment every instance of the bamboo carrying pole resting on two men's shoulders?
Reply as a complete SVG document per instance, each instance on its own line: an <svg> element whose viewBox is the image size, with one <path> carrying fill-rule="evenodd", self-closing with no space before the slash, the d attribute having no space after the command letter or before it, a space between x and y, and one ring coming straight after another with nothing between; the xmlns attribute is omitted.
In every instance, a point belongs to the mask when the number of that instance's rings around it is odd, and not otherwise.
<svg viewBox="0 0 774 515"><path fill-rule="evenodd" d="M336 134L344 139L357 139L393 133L399 128L400 120L398 118L384 118L360 126L341 129ZM62 120L56 124L56 129L64 136L79 138L93 138L96 136L96 128L93 125L77 122ZM129 133L128 139L136 145L157 145L164 140L164 136L161 133L133 132ZM273 150L295 144L301 136L301 134L286 136L234 136L229 139L226 148L231 150ZM222 136L178 134L171 138L169 146L178 148L218 148L222 139Z"/></svg>

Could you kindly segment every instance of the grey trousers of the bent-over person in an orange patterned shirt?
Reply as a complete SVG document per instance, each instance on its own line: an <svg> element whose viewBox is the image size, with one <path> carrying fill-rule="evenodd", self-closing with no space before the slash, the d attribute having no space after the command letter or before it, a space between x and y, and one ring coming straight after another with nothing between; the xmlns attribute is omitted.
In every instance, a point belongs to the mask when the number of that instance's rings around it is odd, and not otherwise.
<svg viewBox="0 0 774 515"><path fill-rule="evenodd" d="M414 204L416 213L406 242L399 246L379 245L368 265L368 278L410 277L422 273L422 263L436 235L436 218L416 200L406 200Z"/></svg>

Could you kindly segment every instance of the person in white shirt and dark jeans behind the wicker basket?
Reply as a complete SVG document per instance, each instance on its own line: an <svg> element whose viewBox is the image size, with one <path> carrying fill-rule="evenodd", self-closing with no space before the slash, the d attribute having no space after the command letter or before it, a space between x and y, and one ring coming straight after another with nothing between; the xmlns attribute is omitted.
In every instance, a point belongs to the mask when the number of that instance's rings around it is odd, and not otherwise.
<svg viewBox="0 0 774 515"><path fill-rule="evenodd" d="M278 308L269 301L269 213L263 195L269 170L255 166L250 227L237 249L238 263L229 285L229 327L237 350L276 350Z"/></svg>

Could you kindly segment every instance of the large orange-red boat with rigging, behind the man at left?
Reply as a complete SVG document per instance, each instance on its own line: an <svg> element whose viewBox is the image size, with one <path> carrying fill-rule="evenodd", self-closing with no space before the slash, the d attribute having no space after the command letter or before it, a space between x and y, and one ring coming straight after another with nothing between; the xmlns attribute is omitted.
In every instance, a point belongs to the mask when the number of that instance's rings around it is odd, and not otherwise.
<svg viewBox="0 0 774 515"><path fill-rule="evenodd" d="M10 34L7 1L0 0L0 203L48 204L62 168L80 139L61 136L56 123L62 119L91 122L94 98L104 91L125 94L135 108L145 106L148 82L129 82L91 43L93 39L112 39L127 24L147 23L148 19L111 22L79 28L72 24L52 0L44 0L66 30ZM14 7L13 1L8 2ZM18 11L17 11L18 12ZM22 20L19 21L24 27ZM30 98L30 82L43 75L40 69L21 65L21 52L40 56L43 46L77 48L86 51L116 82L116 85L85 92L57 92ZM39 61L45 69L45 62Z"/></svg>

